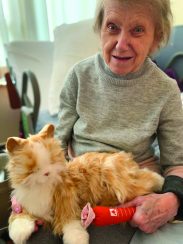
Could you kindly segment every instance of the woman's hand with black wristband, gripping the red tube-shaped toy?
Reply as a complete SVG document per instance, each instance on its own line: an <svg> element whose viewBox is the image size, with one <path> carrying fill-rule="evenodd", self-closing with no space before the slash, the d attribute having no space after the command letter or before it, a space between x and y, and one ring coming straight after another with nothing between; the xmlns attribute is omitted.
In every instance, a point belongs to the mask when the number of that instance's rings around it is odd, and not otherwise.
<svg viewBox="0 0 183 244"><path fill-rule="evenodd" d="M136 212L130 221L131 225L145 233L153 233L177 215L179 200L171 192L152 193L136 197L122 207L136 207Z"/></svg>

